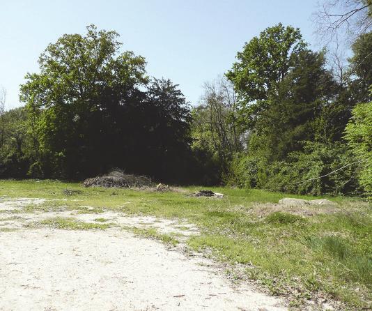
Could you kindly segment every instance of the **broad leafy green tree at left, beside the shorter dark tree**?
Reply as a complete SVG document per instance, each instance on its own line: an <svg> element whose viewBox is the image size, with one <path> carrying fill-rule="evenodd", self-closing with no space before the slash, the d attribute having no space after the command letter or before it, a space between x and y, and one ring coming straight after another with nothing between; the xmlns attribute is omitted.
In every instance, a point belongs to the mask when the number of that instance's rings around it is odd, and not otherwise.
<svg viewBox="0 0 372 311"><path fill-rule="evenodd" d="M93 165L93 172L107 169L115 114L137 101L148 82L144 58L120 53L117 37L93 25L86 36L66 34L42 53L40 73L26 75L20 98L30 118L36 115L45 174L72 178Z"/></svg>

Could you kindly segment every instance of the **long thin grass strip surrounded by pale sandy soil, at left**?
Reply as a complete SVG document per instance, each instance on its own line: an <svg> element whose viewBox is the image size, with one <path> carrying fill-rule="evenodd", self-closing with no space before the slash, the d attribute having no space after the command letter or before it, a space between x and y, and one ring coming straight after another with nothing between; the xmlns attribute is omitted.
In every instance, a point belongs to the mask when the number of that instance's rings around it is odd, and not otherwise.
<svg viewBox="0 0 372 311"><path fill-rule="evenodd" d="M91 222L82 222L76 220L75 218L48 218L45 220L41 220L40 222L36 222L34 226L46 226L52 227L55 229L65 229L65 230L91 230L91 229L100 229L104 230L110 227L109 224L95 224Z"/></svg>

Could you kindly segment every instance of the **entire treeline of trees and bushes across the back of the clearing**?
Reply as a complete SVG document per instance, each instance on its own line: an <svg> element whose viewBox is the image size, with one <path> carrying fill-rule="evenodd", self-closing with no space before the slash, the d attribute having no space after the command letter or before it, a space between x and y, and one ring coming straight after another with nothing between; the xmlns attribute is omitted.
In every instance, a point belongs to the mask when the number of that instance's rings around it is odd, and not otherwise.
<svg viewBox="0 0 372 311"><path fill-rule="evenodd" d="M172 183L371 194L372 33L340 75L299 29L265 29L192 107L169 79L146 75L143 57L121 52L118 33L87 29L50 44L21 86L25 106L1 110L1 178L82 180L120 167Z"/></svg>

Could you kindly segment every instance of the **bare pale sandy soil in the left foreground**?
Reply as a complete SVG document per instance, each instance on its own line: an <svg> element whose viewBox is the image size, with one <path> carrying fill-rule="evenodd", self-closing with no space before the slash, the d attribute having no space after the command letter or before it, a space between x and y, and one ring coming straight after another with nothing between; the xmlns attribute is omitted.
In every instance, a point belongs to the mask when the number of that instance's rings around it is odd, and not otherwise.
<svg viewBox="0 0 372 311"><path fill-rule="evenodd" d="M179 229L176 221L112 212L17 213L8 220L11 214L1 213L7 227L18 229L0 231L0 310L287 310L279 298L249 285L234 287L209 259L187 256L180 247L166 248L120 227L24 227L56 215L198 234L187 223Z"/></svg>

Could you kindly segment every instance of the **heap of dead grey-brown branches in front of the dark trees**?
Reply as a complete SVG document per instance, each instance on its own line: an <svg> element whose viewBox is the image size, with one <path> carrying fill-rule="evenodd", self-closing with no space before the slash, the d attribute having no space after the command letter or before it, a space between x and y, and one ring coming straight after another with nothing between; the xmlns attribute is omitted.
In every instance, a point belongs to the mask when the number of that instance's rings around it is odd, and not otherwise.
<svg viewBox="0 0 372 311"><path fill-rule="evenodd" d="M109 174L86 179L85 187L105 188L153 188L154 183L146 176L125 174L121 169L114 169Z"/></svg>

